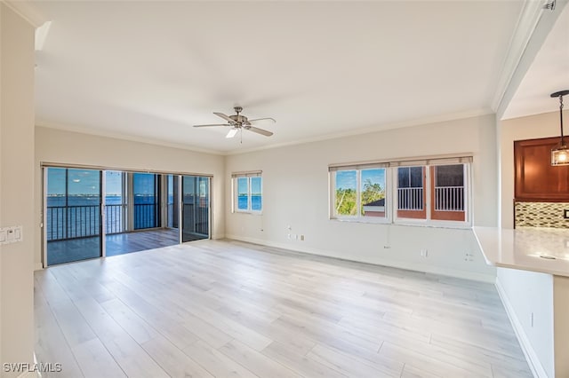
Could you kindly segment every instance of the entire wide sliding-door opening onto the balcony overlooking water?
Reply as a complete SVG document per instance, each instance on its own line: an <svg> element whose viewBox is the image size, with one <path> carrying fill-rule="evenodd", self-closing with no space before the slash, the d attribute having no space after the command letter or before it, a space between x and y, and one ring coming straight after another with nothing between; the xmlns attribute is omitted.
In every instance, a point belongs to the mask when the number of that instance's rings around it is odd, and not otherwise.
<svg viewBox="0 0 569 378"><path fill-rule="evenodd" d="M210 180L44 167L44 265L209 239Z"/></svg>

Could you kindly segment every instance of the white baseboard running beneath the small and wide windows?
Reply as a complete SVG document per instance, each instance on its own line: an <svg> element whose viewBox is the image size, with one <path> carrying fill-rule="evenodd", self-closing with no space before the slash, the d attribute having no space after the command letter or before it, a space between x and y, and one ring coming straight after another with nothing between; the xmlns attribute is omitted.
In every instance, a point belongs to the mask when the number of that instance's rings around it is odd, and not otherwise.
<svg viewBox="0 0 569 378"><path fill-rule="evenodd" d="M485 273L478 273L478 272L465 272L465 271L458 271L454 269L448 269L440 266L434 265L427 265L427 264L419 264L419 263L409 263L405 261L398 261L398 260L388 260L388 259L381 259L379 261L365 261L365 260L357 260L357 259L349 259L346 256L334 255L331 254L328 250L316 249L316 248L307 248L307 247L296 247L286 243L278 243L271 240L261 240L261 239L254 239L243 237L239 235L225 235L227 239L231 240L239 240L245 241L248 243L253 244L260 244L261 246L273 247L273 248L283 248L292 250L294 252L301 252L306 253L309 255L317 255L317 256L326 256L326 257L333 257L339 258L341 260L348 260L354 261L357 263L365 263L365 264L373 264L373 265L382 265L382 266L390 266L393 268L405 269L407 271L414 271L414 272L425 272L431 274L438 274L442 276L448 276L458 279L465 279L465 280L475 280L480 282L486 283L494 283L496 277L494 275L485 274Z"/></svg>

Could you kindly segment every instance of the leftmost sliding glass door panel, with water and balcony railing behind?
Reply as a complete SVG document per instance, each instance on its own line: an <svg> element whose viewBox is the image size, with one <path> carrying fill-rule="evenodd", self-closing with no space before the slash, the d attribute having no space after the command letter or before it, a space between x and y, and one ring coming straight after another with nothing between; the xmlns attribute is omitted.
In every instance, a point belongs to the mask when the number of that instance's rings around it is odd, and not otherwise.
<svg viewBox="0 0 569 378"><path fill-rule="evenodd" d="M46 168L47 264L100 257L101 172Z"/></svg>

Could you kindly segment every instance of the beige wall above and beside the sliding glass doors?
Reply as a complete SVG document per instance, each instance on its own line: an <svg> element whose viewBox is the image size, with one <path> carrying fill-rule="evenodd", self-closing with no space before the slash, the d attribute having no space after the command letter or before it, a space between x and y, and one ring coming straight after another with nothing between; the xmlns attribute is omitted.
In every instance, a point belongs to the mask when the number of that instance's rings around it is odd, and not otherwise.
<svg viewBox="0 0 569 378"><path fill-rule="evenodd" d="M224 157L179 148L36 127L36 219L42 209L41 162L142 171L213 175L212 237L224 236ZM41 264L41 229L36 224L36 267Z"/></svg>

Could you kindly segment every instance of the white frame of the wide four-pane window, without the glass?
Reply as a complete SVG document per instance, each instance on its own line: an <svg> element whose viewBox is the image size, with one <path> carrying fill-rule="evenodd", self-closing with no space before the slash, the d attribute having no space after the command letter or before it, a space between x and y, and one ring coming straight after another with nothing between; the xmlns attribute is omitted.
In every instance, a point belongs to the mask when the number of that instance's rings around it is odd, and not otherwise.
<svg viewBox="0 0 569 378"><path fill-rule="evenodd" d="M430 157L430 158L410 158L402 161L373 161L364 163L351 163L351 164L331 164L328 166L329 170L329 218L331 220L348 221L348 222L361 222L361 223L379 223L379 224L407 224L429 227L441 228L470 228L472 226L472 155L460 156L444 156L444 157ZM455 165L462 164L464 167L464 221L453 220L439 220L431 219L431 177L430 167L439 165ZM397 168L399 167L424 167L425 179L423 182L423 191L425 192L424 208L426 216L424 219L419 218L405 218L397 217L398 208L398 177ZM361 193L361 170L385 168L385 217L362 217L359 212ZM336 172L339 170L356 170L357 171L357 216L340 216L335 213L335 193L336 193Z"/></svg>

